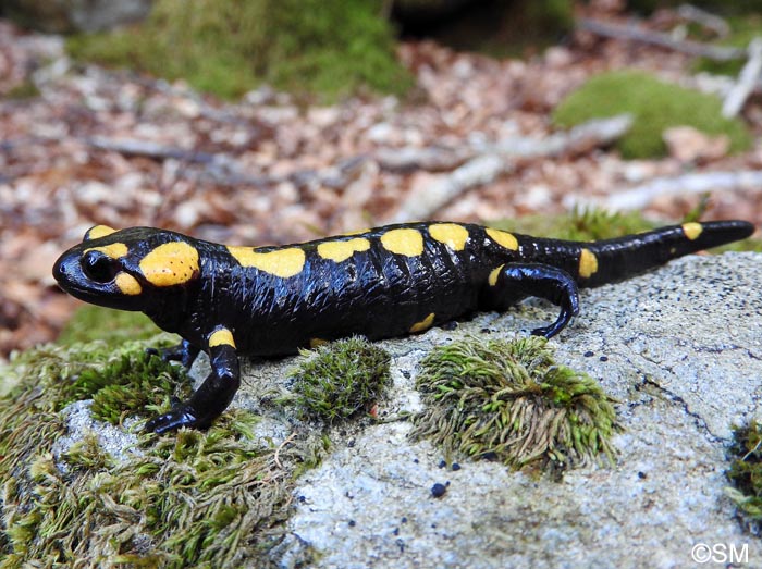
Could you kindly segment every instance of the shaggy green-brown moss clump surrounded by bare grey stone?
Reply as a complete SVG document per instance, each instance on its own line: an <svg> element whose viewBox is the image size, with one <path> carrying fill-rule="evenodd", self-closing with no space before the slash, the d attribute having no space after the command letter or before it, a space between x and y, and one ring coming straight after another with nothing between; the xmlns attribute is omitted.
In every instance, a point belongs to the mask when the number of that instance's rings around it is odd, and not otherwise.
<svg viewBox="0 0 762 569"><path fill-rule="evenodd" d="M558 366L546 341L471 338L434 348L417 380L425 410L411 436L471 457L553 469L611 461L613 399L590 376Z"/></svg>

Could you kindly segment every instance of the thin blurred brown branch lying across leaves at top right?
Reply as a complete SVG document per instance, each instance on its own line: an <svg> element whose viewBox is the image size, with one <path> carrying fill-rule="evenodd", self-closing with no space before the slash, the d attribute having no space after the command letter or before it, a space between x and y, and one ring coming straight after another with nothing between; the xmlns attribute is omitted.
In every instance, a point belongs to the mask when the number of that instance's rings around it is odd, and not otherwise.
<svg viewBox="0 0 762 569"><path fill-rule="evenodd" d="M661 32L650 32L635 26L624 26L587 17L577 20L577 29L607 38L628 39L660 46L680 53L687 53L688 55L709 58L714 61L732 61L746 57L746 50L740 48L711 46L688 39L677 40Z"/></svg>

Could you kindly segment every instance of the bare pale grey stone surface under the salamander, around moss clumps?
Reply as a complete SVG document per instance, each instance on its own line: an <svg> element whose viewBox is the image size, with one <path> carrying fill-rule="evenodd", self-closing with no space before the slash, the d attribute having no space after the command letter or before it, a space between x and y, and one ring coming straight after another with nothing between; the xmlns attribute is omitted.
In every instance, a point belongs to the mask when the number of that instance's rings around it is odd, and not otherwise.
<svg viewBox="0 0 762 569"><path fill-rule="evenodd" d="M407 421L340 428L330 456L300 479L291 535L274 560L293 566L311 546L325 568L672 568L692 567L692 548L708 544L720 546L714 560L735 547L762 566L762 546L742 532L724 494L730 426L759 418L760 282L762 256L728 253L583 293L581 314L552 344L560 362L622 401L616 466L567 471L560 482L466 458L452 470L429 443L407 438ZM454 331L382 343L394 387L381 417L420 408L416 363L432 345L487 337L483 329L511 338L554 316L529 302ZM267 366L253 367L256 379L236 405L256 406L283 388L272 383L278 366ZM446 486L439 498L437 483Z"/></svg>

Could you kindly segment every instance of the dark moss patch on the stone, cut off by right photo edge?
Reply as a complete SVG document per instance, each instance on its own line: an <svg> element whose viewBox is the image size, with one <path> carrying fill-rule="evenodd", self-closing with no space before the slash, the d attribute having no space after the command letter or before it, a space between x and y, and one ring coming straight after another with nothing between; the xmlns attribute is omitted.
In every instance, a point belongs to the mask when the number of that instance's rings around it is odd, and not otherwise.
<svg viewBox="0 0 762 569"><path fill-rule="evenodd" d="M728 495L738 516L752 533L762 533L762 425L751 421L733 430L728 449L730 468L725 472L733 484Z"/></svg>

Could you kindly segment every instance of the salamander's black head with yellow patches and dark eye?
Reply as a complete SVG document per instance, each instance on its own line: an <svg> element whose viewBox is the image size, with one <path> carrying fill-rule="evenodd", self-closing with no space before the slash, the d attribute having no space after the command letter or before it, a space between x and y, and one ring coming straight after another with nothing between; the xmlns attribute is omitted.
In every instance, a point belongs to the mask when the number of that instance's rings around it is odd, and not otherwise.
<svg viewBox="0 0 762 569"><path fill-rule="evenodd" d="M180 233L96 225L64 252L53 276L66 293L122 310L152 311L200 275L196 242Z"/></svg>

